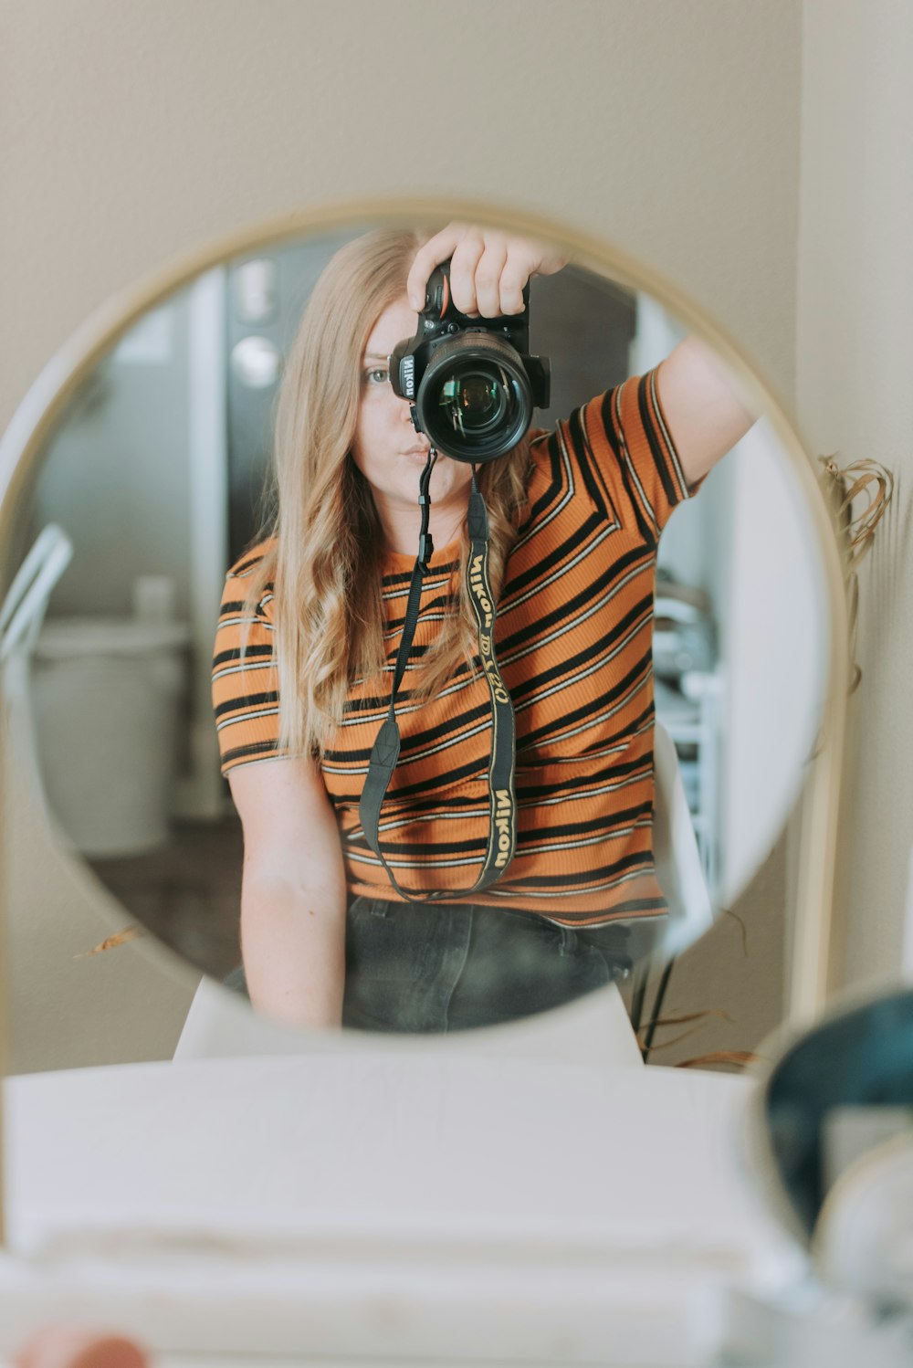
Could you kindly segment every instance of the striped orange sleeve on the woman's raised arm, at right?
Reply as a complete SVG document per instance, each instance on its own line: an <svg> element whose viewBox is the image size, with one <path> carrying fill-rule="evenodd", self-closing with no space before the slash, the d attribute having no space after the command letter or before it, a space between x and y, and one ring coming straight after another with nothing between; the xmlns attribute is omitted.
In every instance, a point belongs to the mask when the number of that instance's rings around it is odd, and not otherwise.
<svg viewBox="0 0 913 1368"><path fill-rule="evenodd" d="M657 369L631 376L580 410L582 436L619 521L638 528L648 544L700 484L689 488L685 480L659 401Z"/></svg>

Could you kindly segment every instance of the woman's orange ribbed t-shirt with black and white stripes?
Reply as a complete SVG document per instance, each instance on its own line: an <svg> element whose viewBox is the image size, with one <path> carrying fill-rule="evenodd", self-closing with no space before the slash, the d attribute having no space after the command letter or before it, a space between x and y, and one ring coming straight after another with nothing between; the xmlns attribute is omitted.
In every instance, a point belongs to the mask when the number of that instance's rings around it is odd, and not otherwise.
<svg viewBox="0 0 913 1368"><path fill-rule="evenodd" d="M543 434L532 461L529 503L495 627L517 722L517 852L495 884L466 900L570 926L655 917L666 911L651 840L656 543L689 492L656 371ZM280 755L272 592L253 620L243 617L245 579L265 549L249 551L226 580L213 662L223 773ZM455 551L444 547L432 557L415 653L433 639L455 592ZM383 688L377 680L353 685L321 761L350 895L390 900L398 895L365 841L358 802L390 706L413 562L399 553L385 557ZM409 892L452 889L459 900L478 876L488 840L488 685L462 666L435 698L415 705L406 674L396 717L402 750L381 811L381 850Z"/></svg>

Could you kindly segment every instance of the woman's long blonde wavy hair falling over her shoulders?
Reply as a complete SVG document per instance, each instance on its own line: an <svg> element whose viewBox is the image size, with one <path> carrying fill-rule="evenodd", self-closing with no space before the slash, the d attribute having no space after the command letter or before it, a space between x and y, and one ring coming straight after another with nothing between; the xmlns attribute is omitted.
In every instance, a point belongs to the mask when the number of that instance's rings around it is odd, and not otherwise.
<svg viewBox="0 0 913 1368"><path fill-rule="evenodd" d="M245 616L253 616L272 584L279 746L286 754L323 754L353 683L392 670L381 601L384 532L350 450L368 338L384 309L406 294L425 241L417 233L379 230L342 248L314 286L286 361L275 419L273 512L257 536L271 544L250 575L245 603ZM529 439L480 471L496 595L526 505L528 473ZM462 540L466 564L465 525ZM476 621L459 572L451 590L455 611L421 666L410 669L413 696L435 694L463 662L477 668Z"/></svg>

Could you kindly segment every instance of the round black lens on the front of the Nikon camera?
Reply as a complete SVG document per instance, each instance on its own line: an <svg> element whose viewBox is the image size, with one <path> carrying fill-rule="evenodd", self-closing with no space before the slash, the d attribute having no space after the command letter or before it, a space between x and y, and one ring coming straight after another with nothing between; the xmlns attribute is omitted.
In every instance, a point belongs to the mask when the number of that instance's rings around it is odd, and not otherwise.
<svg viewBox="0 0 913 1368"><path fill-rule="evenodd" d="M415 399L421 428L458 461L504 456L529 427L533 402L517 352L498 337L465 332L441 343Z"/></svg>

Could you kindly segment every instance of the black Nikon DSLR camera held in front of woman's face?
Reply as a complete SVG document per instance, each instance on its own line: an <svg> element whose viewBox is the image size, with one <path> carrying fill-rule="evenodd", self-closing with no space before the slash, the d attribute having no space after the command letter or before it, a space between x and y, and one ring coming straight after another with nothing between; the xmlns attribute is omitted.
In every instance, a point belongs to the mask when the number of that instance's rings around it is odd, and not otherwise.
<svg viewBox="0 0 913 1368"><path fill-rule="evenodd" d="M548 408L548 360L528 349L529 285L522 313L469 317L454 308L444 261L425 289L415 337L394 347L390 382L439 451L472 465L493 461L517 446L533 408Z"/></svg>

